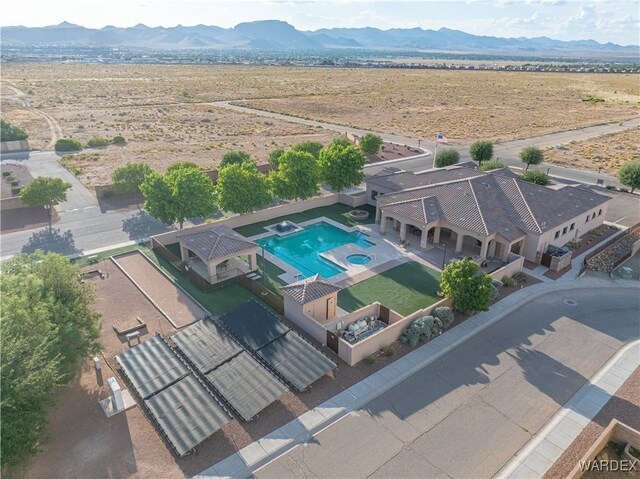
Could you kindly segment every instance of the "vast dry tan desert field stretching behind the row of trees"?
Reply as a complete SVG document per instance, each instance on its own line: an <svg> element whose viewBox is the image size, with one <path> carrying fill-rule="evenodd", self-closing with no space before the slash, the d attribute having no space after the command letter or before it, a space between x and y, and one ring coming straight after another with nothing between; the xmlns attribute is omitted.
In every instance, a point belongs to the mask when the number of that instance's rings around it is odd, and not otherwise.
<svg viewBox="0 0 640 479"><path fill-rule="evenodd" d="M79 161L88 185L113 168L143 161L158 170L177 160L213 167L229 149L260 162L277 147L327 143L326 130L220 110L208 102L250 100L256 108L453 143L528 137L637 115L636 75L194 65L7 63L3 81L86 142L123 135L98 160ZM3 95L3 115L42 147L49 127ZM8 97L13 96L13 100ZM604 102L583 101L590 96ZM44 132L44 134L42 133ZM40 146L38 146L40 145Z"/></svg>

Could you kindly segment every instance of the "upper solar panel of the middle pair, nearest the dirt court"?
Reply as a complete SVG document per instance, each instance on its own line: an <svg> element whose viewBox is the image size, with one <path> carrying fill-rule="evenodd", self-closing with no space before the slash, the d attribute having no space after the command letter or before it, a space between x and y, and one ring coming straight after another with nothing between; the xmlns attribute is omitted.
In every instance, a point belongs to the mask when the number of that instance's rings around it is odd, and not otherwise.
<svg viewBox="0 0 640 479"><path fill-rule="evenodd" d="M175 345L202 373L232 358L242 347L211 318L189 326L171 337Z"/></svg>

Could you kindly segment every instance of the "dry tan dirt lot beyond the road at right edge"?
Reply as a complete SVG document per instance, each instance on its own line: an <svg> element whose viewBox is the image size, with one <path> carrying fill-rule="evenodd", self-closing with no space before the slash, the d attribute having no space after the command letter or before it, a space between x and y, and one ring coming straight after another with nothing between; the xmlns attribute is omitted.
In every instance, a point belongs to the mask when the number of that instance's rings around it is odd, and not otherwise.
<svg viewBox="0 0 640 479"><path fill-rule="evenodd" d="M602 168L606 173L616 174L625 163L640 158L640 128L571 142L563 147L545 151L544 161L582 170Z"/></svg>

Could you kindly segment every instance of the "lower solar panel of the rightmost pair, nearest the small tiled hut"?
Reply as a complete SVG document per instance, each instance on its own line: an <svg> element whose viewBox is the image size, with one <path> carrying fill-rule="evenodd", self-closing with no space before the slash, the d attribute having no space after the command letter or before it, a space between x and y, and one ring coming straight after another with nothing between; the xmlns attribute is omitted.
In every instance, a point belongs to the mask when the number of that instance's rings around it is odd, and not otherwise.
<svg viewBox="0 0 640 479"><path fill-rule="evenodd" d="M257 353L298 391L304 391L337 367L295 331L280 336Z"/></svg>

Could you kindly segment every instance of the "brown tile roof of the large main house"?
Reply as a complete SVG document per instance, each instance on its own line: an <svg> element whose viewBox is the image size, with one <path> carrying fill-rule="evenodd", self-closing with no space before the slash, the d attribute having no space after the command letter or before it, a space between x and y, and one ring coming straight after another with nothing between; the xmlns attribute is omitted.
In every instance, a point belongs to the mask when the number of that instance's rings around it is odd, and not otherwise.
<svg viewBox="0 0 640 479"><path fill-rule="evenodd" d="M446 184L381 195L378 206L390 216L418 223L442 220L479 235L498 233L514 241L527 232L548 231L610 199L580 186L552 189L534 185L502 170L477 173Z"/></svg>

